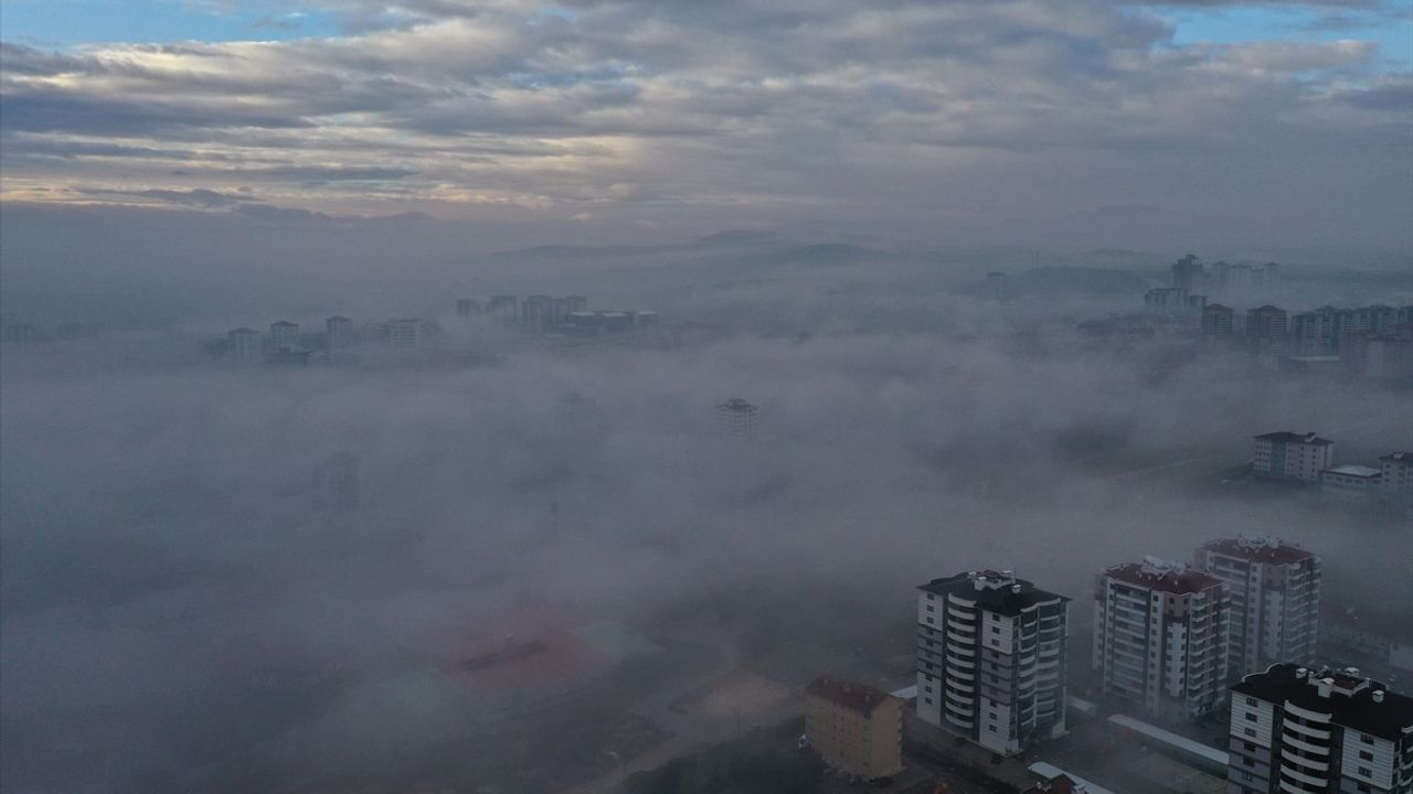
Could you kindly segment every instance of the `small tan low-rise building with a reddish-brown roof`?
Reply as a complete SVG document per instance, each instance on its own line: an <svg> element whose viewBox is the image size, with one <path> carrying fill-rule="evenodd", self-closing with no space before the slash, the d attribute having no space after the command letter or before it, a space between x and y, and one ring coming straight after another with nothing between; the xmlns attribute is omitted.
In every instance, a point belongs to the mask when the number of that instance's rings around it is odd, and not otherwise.
<svg viewBox="0 0 1413 794"><path fill-rule="evenodd" d="M821 675L805 687L805 740L831 769L875 780L903 770L903 701Z"/></svg>

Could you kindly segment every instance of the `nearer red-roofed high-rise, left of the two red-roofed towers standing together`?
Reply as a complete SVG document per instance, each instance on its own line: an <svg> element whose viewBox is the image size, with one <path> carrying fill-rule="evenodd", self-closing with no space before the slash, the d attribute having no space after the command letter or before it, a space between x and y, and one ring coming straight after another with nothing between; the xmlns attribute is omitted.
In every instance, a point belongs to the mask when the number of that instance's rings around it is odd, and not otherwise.
<svg viewBox="0 0 1413 794"><path fill-rule="evenodd" d="M1094 670L1105 698L1166 722L1226 698L1228 600L1221 579L1154 557L1098 576Z"/></svg>

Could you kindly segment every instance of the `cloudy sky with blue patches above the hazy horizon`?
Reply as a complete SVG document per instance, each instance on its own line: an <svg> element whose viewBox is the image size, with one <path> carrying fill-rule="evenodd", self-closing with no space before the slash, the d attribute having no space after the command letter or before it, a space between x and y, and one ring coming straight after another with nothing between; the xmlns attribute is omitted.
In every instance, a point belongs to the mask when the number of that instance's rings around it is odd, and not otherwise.
<svg viewBox="0 0 1413 794"><path fill-rule="evenodd" d="M1406 1L10 0L0 31L0 206L1410 247Z"/></svg>

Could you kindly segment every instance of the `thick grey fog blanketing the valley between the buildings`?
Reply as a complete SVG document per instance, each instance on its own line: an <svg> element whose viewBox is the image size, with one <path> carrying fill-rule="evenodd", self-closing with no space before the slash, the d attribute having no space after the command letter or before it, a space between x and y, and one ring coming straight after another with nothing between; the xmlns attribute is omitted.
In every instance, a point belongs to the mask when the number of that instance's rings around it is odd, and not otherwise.
<svg viewBox="0 0 1413 794"><path fill-rule="evenodd" d="M7 780L44 790L66 746L103 747L112 791L497 778L465 754L438 767L465 713L382 682L544 620L711 644L790 682L900 656L906 672L930 578L1013 568L1075 599L1082 646L1095 571L1242 531L1320 551L1331 598L1413 598L1406 526L1218 476L1272 429L1335 438L1341 461L1407 448L1407 390L1075 332L1132 311L1156 257L1075 270L742 239L479 257L439 308L427 298L454 352L434 357L208 352L274 308L8 346ZM986 300L998 259L1040 287ZM1320 273L1286 297L1409 295L1406 274ZM562 345L448 311L557 283L708 331ZM336 308L290 318L319 328ZM731 397L759 407L753 441L716 425ZM336 455L356 459L356 507L322 490Z"/></svg>

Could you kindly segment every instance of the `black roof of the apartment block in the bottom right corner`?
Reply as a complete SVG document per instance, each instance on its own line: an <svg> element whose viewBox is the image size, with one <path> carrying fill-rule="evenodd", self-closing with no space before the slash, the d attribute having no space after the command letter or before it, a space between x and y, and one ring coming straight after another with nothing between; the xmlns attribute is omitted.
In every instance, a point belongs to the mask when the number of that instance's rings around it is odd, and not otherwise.
<svg viewBox="0 0 1413 794"><path fill-rule="evenodd" d="M1413 698L1389 692L1388 685L1364 678L1352 667L1317 671L1296 664L1273 664L1265 672L1246 675L1232 691L1328 713L1344 728L1392 742L1413 732Z"/></svg>

